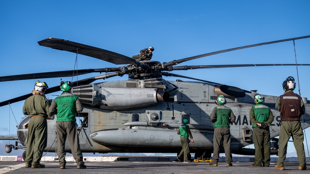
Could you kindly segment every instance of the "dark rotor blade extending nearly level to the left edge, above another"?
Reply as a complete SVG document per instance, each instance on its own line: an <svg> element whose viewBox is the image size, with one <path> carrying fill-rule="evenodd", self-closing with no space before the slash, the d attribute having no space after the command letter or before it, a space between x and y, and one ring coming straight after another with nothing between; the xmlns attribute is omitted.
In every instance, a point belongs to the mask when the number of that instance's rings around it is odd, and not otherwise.
<svg viewBox="0 0 310 174"><path fill-rule="evenodd" d="M68 70L68 71L56 71L56 72L39 72L32 74L21 74L13 76L2 76L0 81L13 81L13 80L28 80L28 79L42 79L42 78L54 78L54 77L71 77L77 75L88 74L92 72L116 72L121 71L122 68L100 68L100 69L81 69L81 70Z"/></svg>

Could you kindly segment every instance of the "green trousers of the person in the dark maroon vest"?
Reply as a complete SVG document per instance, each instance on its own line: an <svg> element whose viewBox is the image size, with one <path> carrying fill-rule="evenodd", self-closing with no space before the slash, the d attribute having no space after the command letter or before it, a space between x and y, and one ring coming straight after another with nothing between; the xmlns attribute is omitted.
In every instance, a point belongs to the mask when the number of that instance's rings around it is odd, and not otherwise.
<svg viewBox="0 0 310 174"><path fill-rule="evenodd" d="M303 129L299 120L282 121L279 134L278 166L283 166L286 157L287 142L292 135L300 166L306 166L306 155L303 146Z"/></svg>

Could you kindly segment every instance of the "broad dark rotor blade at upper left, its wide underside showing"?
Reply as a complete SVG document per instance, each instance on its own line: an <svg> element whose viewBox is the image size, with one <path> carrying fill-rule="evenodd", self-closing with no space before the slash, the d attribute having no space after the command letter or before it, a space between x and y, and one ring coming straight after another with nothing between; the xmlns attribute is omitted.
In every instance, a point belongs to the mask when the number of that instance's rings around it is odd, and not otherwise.
<svg viewBox="0 0 310 174"><path fill-rule="evenodd" d="M135 59L124 56L122 54L64 39L47 38L42 41L38 41L38 44L40 46L46 46L56 50L64 50L73 53L76 53L78 51L78 54L83 54L96 59L104 60L110 63L114 63L116 65L132 64L136 62Z"/></svg>

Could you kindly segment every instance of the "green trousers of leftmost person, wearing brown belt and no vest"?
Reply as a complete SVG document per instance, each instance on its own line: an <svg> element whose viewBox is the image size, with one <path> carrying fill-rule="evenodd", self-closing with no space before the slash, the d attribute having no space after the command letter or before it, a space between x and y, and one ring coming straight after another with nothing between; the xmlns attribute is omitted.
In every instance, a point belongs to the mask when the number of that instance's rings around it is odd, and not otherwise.
<svg viewBox="0 0 310 174"><path fill-rule="evenodd" d="M46 118L30 118L27 134L26 164L38 165L47 145Z"/></svg>

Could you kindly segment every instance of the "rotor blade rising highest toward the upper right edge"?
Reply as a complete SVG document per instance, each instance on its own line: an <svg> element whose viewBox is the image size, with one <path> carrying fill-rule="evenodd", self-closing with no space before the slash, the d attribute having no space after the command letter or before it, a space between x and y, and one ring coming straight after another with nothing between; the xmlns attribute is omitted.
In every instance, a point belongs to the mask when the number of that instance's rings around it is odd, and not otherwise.
<svg viewBox="0 0 310 174"><path fill-rule="evenodd" d="M254 47L254 46L261 46L261 45L267 45L267 44L278 43L278 42L285 42L285 41L292 41L292 40L297 40L297 39L304 39L304 38L308 38L308 37L310 37L310 35L309 36L302 36L302 37L294 37L294 38L290 38L290 39L283 39L283 40L278 40L278 41L264 42L264 43L248 45L248 46L240 46L240 47L231 48L231 49L227 49L227 50L215 51L215 52L212 52L212 53L207 53L207 54L201 54L201 55L197 55L197 56L193 56L193 57L188 57L188 58L185 58L185 59L173 60L173 61L168 62L168 63L163 63L163 65L164 65L164 67L167 67L167 66L171 66L171 65L176 65L178 63L186 62L186 61L189 61L189 60L198 59L198 58L201 58L201 57L206 57L206 56L210 56L210 55L214 55L214 54L219 54L219 53L225 53L225 52L228 52L228 51L240 50L240 49L244 49L244 48L250 48L250 47Z"/></svg>

